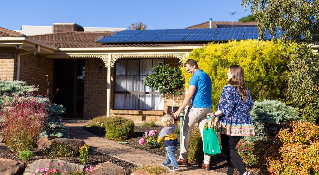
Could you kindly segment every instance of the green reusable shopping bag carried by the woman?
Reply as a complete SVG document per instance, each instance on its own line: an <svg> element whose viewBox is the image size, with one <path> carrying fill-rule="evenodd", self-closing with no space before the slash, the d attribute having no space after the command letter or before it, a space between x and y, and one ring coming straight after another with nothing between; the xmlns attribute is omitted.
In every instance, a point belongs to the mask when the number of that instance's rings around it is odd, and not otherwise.
<svg viewBox="0 0 319 175"><path fill-rule="evenodd" d="M208 117L208 129L204 129L204 154L207 156L215 156L216 154L220 154L219 141L216 133L214 132L214 121L212 121L211 116Z"/></svg>

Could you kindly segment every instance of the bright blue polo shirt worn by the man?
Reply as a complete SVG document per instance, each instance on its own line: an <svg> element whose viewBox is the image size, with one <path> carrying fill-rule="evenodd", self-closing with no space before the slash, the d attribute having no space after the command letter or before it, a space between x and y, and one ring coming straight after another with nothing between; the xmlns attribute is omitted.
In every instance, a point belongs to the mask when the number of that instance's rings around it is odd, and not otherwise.
<svg viewBox="0 0 319 175"><path fill-rule="evenodd" d="M189 86L196 86L191 104L194 108L212 108L211 78L204 73L203 69L199 69L194 73L190 78Z"/></svg>

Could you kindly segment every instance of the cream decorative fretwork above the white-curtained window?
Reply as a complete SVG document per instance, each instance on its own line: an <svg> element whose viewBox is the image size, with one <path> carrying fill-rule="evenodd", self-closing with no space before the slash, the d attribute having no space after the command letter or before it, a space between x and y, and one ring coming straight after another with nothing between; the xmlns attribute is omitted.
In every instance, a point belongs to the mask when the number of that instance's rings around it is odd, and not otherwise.
<svg viewBox="0 0 319 175"><path fill-rule="evenodd" d="M114 67L114 64L116 60L119 58L141 58L141 57L147 57L147 58L162 58L162 57L173 57L177 58L179 62L181 63L186 55L182 53L149 53L149 54L112 54L111 55L111 67Z"/></svg>

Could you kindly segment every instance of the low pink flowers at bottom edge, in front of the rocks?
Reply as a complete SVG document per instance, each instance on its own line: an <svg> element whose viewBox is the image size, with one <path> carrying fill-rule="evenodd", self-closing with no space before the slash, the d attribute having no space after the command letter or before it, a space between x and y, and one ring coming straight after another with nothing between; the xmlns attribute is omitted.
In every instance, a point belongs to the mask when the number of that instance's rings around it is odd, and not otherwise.
<svg viewBox="0 0 319 175"><path fill-rule="evenodd" d="M37 170L34 171L33 175L36 175L36 174L41 174L41 175L62 175L62 174L66 174L66 175L95 175L95 172L94 172L94 167L91 166L90 168L85 168L85 171L80 171L79 169L77 168L74 168L74 171L66 171L64 170L63 172L61 172L61 166L64 166L65 164L63 163L57 163L56 164L56 167L54 166L51 166L51 164L47 164L47 167L44 168L44 167L39 167Z"/></svg>

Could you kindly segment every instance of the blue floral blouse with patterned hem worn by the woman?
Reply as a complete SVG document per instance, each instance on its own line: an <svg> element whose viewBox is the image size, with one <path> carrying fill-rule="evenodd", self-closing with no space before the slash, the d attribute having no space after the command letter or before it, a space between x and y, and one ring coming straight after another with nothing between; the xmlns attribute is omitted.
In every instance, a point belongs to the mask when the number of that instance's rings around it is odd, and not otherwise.
<svg viewBox="0 0 319 175"><path fill-rule="evenodd" d="M215 126L221 134L229 136L254 135L254 126L249 111L253 109L250 90L247 88L247 99L241 99L236 87L226 85L220 96L217 110L223 114L215 118Z"/></svg>

